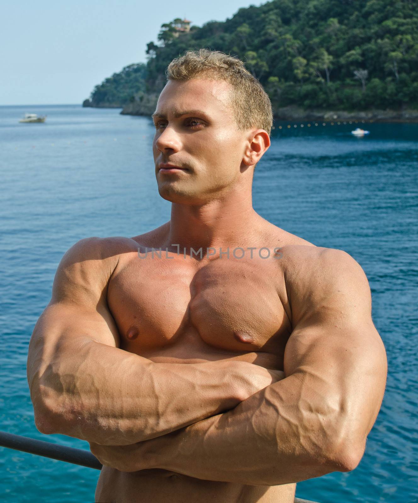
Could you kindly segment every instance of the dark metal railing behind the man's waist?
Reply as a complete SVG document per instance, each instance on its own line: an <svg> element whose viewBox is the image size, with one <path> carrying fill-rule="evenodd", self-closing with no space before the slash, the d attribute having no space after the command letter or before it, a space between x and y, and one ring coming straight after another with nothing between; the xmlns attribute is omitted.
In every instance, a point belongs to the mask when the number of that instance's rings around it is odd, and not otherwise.
<svg viewBox="0 0 418 503"><path fill-rule="evenodd" d="M94 468L95 470L101 470L103 466L91 452L84 451L83 449L51 444L51 442L22 437L21 435L14 435L13 433L0 432L0 447L28 452L36 456L57 459L58 461L73 463L75 465L87 466L87 468ZM316 502L309 501L308 499L295 498L295 503Z"/></svg>

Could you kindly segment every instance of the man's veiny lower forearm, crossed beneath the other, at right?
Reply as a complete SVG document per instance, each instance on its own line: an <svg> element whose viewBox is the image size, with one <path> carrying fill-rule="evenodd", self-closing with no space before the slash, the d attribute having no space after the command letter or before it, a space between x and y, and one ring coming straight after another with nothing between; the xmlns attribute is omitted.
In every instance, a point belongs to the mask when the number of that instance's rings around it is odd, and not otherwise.
<svg viewBox="0 0 418 503"><path fill-rule="evenodd" d="M272 384L229 412L138 444L142 457L150 460L149 467L250 485L352 469L349 458L337 452L340 424L329 420L329 402L323 397L322 409L311 408L300 400L301 386L293 376Z"/></svg>

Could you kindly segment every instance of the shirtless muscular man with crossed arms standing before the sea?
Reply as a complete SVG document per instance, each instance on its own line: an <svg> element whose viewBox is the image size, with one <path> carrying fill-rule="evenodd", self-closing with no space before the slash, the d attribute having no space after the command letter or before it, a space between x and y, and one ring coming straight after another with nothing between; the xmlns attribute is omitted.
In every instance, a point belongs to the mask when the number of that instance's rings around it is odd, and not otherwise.
<svg viewBox="0 0 418 503"><path fill-rule="evenodd" d="M190 51L167 77L153 151L171 219L63 256L29 348L36 426L90 443L98 502L290 503L353 470L376 420L369 284L253 210L272 116L242 62Z"/></svg>

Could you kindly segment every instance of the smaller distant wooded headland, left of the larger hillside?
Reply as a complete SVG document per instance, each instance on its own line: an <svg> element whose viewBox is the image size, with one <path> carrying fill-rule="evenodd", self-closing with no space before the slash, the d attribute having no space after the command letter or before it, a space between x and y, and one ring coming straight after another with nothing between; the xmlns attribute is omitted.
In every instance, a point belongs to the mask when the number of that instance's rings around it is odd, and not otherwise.
<svg viewBox="0 0 418 503"><path fill-rule="evenodd" d="M122 107L126 105L135 93L145 90L146 72L147 65L145 63L133 63L125 66L122 71L113 73L111 77L96 86L90 100L85 101L85 106Z"/></svg>

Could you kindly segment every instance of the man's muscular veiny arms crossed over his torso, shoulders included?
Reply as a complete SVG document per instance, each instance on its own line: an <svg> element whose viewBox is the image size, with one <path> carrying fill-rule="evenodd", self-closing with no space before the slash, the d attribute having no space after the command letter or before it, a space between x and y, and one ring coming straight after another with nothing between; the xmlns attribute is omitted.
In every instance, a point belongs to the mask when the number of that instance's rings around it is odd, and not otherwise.
<svg viewBox="0 0 418 503"><path fill-rule="evenodd" d="M315 260L301 271L292 251L283 375L245 362L156 364L120 350L106 303L108 247L90 238L67 251L35 325L28 381L41 432L85 439L122 471L276 485L357 466L387 371L357 262L309 247Z"/></svg>

